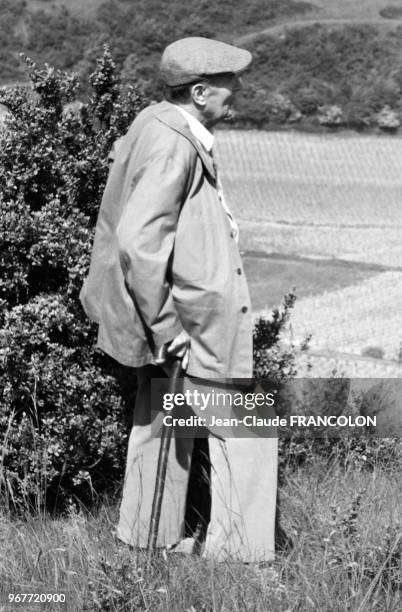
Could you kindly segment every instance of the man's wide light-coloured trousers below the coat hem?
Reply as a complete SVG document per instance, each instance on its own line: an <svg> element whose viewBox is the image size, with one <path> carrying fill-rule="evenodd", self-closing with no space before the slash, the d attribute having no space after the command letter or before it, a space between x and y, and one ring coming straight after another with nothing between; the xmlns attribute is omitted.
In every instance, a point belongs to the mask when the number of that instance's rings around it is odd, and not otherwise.
<svg viewBox="0 0 402 612"><path fill-rule="evenodd" d="M117 525L117 536L139 548L147 545L160 446L160 439L152 433L153 376L161 376L161 369L144 366L137 370ZM172 438L157 545L178 545L180 550L180 542L187 539L193 542L190 552L207 559L272 561L277 439L222 439L213 432L207 434Z"/></svg>

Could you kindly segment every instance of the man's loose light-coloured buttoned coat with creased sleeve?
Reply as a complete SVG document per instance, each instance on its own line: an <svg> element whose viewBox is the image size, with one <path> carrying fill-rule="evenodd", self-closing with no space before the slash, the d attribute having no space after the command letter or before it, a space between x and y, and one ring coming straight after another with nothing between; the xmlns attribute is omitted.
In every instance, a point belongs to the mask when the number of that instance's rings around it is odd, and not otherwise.
<svg viewBox="0 0 402 612"><path fill-rule="evenodd" d="M152 363L184 328L189 375L252 376L249 292L213 159L169 102L118 142L80 298L123 365Z"/></svg>

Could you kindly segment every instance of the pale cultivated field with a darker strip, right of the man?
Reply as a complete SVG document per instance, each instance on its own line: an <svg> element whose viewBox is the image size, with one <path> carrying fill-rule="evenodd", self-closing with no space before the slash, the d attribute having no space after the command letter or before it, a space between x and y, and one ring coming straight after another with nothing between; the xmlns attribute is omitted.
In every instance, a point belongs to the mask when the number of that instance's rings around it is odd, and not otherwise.
<svg viewBox="0 0 402 612"><path fill-rule="evenodd" d="M401 139L222 131L217 143L255 310L295 287L288 340L311 333L320 363L351 355L351 375L373 375L353 355L374 346L401 376Z"/></svg>

